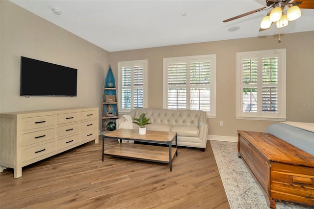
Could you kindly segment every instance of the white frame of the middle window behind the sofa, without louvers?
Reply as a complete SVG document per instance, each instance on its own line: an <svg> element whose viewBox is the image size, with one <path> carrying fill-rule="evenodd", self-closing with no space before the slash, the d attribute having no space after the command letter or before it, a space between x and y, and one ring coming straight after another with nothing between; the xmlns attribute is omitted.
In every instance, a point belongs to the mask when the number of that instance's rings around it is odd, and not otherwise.
<svg viewBox="0 0 314 209"><path fill-rule="evenodd" d="M175 62L186 62L187 71L189 70L189 64L193 62L209 61L210 62L210 111L206 111L207 118L216 118L216 54L205 54L205 55L192 55L192 56L181 56L181 57L167 57L163 58L163 97L162 106L168 108L168 64ZM189 77L189 71L186 75ZM190 88L189 80L186 83L186 89ZM188 102L187 102L188 103Z"/></svg>

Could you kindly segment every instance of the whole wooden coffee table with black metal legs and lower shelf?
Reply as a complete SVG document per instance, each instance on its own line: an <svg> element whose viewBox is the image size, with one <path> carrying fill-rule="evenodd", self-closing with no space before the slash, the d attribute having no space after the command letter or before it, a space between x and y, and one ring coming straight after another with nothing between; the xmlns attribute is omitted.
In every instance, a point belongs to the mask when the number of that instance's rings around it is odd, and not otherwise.
<svg viewBox="0 0 314 209"><path fill-rule="evenodd" d="M169 164L170 171L172 171L172 159L174 155L178 156L177 132L146 131L145 135L140 135L138 130L119 129L104 132L101 135L103 136L103 161L104 155L108 155L161 162ZM106 137L119 139L120 142L122 142L122 139L134 140L134 144L119 143L105 150ZM175 140L175 147L172 147L173 140ZM147 144L136 144L136 141ZM157 146L158 144L166 144L168 146Z"/></svg>

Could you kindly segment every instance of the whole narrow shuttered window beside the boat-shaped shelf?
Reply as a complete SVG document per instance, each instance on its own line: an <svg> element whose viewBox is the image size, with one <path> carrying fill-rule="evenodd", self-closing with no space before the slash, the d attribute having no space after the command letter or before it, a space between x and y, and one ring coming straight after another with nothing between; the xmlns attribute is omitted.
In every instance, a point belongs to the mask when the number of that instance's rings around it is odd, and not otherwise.
<svg viewBox="0 0 314 209"><path fill-rule="evenodd" d="M147 107L147 60L118 62L119 111Z"/></svg>

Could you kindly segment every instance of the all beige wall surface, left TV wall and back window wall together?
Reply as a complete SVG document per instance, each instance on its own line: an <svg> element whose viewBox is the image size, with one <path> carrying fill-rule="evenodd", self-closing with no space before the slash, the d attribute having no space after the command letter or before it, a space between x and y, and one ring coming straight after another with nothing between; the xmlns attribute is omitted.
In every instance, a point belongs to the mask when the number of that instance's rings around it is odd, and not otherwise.
<svg viewBox="0 0 314 209"><path fill-rule="evenodd" d="M209 119L209 134L236 136L236 130L264 131L278 122L235 119L235 53L287 49L287 118L314 122L314 31L278 36L107 52L78 36L26 11L0 1L0 112L99 106L108 64L117 77L117 62L148 59L148 107L162 107L164 57L216 54L216 119ZM77 97L21 97L20 56L78 69ZM224 126L219 126L219 121Z"/></svg>

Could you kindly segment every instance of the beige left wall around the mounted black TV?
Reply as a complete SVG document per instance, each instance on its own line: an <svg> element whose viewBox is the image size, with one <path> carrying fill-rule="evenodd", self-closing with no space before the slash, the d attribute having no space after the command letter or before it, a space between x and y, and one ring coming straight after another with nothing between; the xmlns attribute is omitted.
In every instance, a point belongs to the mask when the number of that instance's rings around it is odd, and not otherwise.
<svg viewBox="0 0 314 209"><path fill-rule="evenodd" d="M10 1L1 0L0 5L0 112L80 106L101 109L109 52ZM78 69L77 97L21 97L21 56Z"/></svg>

